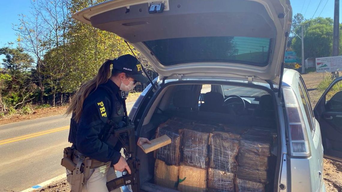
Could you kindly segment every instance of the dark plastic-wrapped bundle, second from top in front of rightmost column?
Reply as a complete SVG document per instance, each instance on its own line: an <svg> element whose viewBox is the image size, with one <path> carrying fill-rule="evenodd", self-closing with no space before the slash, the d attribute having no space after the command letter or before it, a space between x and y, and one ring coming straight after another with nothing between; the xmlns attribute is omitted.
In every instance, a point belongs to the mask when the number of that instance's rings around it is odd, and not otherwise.
<svg viewBox="0 0 342 192"><path fill-rule="evenodd" d="M255 153L239 153L238 162L242 166L256 169L266 170L268 168L268 156L257 155Z"/></svg>

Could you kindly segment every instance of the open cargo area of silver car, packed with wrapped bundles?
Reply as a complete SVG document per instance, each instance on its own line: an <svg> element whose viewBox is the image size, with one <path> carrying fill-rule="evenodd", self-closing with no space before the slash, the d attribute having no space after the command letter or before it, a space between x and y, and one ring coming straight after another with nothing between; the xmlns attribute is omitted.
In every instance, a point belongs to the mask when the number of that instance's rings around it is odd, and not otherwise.
<svg viewBox="0 0 342 192"><path fill-rule="evenodd" d="M198 99L193 102L184 94L199 95L202 85L169 84L157 91L145 108L142 121L135 120L139 124L138 136L153 139L166 134L172 140L155 152L145 154L138 150L141 189L275 191L280 164L278 148L281 149L279 123L274 121L278 119L276 109L253 122L250 115L201 111L193 107L198 106ZM174 97L180 91L181 101L176 103ZM273 97L272 92L269 94Z"/></svg>

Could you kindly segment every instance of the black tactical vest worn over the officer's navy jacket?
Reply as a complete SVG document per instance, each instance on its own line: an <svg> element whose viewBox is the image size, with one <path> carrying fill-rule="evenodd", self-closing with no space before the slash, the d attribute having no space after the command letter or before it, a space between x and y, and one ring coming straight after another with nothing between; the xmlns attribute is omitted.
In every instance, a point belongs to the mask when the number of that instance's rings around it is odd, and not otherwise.
<svg viewBox="0 0 342 192"><path fill-rule="evenodd" d="M113 123L109 124L108 122L111 120L115 124L119 124L123 120L124 117L124 109L123 109L123 102L124 100L119 96L118 92L114 92L111 87L107 85L107 83L103 83L98 86L98 88L103 88L106 90L108 95L110 96L110 108L111 111L109 111L108 115L108 121L107 123L104 124L104 127L101 130L101 133L99 135L99 138L101 139L102 142L105 142L110 148L119 150L121 149L120 146L116 146L118 143L118 138L114 137L113 134L108 133L108 132L114 132L115 129L113 130ZM94 111L96 113L96 111ZM71 116L71 122L70 122L70 131L69 131L69 142L71 143L76 143L76 132L77 132L77 123L73 119L74 114ZM120 143L120 142L119 142ZM118 144L119 144L118 143Z"/></svg>

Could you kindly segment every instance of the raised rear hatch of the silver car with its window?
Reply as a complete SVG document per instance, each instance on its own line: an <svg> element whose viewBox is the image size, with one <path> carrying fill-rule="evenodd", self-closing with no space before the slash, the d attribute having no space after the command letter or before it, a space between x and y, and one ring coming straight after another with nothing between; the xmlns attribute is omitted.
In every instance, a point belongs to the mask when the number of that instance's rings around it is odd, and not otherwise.
<svg viewBox="0 0 342 192"><path fill-rule="evenodd" d="M163 77L224 77L279 85L289 0L114 0L73 18L113 32Z"/></svg>

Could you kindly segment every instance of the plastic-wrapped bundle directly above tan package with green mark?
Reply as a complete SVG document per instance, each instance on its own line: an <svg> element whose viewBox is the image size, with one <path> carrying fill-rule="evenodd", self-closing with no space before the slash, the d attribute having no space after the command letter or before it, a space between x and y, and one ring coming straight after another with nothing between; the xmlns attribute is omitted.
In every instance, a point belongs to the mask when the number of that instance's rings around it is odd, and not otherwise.
<svg viewBox="0 0 342 192"><path fill-rule="evenodd" d="M209 133L190 129L183 130L183 162L186 165L206 168L208 166Z"/></svg>

